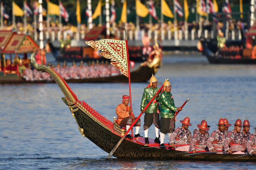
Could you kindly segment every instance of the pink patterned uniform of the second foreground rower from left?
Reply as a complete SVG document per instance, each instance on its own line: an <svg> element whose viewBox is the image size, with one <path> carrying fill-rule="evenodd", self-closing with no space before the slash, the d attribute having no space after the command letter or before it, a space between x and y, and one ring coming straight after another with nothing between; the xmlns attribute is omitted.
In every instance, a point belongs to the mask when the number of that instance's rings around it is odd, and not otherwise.
<svg viewBox="0 0 256 170"><path fill-rule="evenodd" d="M209 138L209 132L205 132L205 134L201 134L199 132L199 129L194 130L194 134L192 137L192 142L190 143L190 151L196 150L196 151L202 151L205 150L207 147L206 141Z"/></svg>

